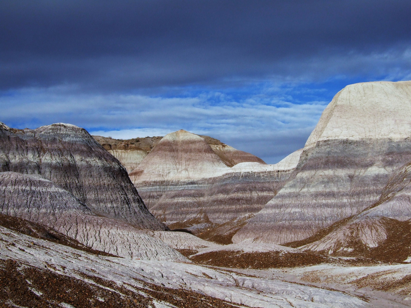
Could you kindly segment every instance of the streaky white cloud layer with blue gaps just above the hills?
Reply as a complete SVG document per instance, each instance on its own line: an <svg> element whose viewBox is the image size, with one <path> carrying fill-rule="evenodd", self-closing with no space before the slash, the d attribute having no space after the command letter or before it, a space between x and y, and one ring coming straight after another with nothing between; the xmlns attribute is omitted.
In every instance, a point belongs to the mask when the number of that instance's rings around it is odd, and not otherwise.
<svg viewBox="0 0 411 308"><path fill-rule="evenodd" d="M122 139L185 129L275 163L304 145L328 103L292 103L287 93L289 88L270 85L235 100L220 92L167 98L31 88L0 97L1 121L20 128L66 122Z"/></svg>

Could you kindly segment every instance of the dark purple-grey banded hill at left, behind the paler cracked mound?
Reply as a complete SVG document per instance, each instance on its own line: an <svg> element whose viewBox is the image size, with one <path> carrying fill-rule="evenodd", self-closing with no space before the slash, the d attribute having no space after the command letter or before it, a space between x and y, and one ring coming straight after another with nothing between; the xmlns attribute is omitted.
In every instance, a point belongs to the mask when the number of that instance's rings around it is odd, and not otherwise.
<svg viewBox="0 0 411 308"><path fill-rule="evenodd" d="M12 129L0 124L0 171L42 175L93 213L139 228L164 230L127 171L90 134L71 124Z"/></svg>

